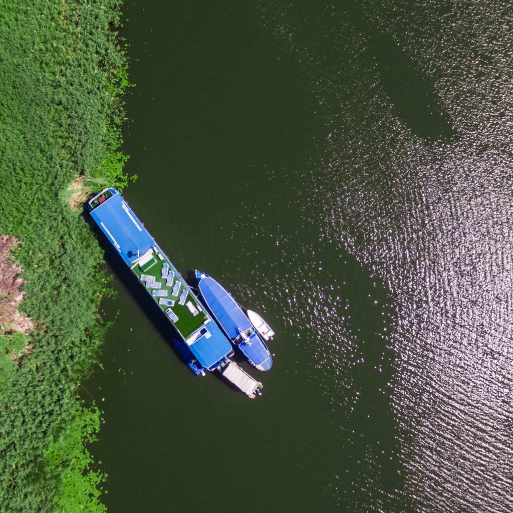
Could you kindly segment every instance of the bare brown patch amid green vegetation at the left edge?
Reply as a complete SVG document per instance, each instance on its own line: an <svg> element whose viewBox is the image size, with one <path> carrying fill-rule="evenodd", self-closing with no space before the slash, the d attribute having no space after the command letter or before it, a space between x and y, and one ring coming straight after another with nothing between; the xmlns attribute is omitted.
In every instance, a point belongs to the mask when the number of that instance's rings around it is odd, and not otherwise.
<svg viewBox="0 0 513 513"><path fill-rule="evenodd" d="M24 280L18 278L23 269L11 263L11 249L18 242L16 237L0 234L0 329L27 334L33 328L33 323L18 311L18 305L25 294L21 290ZM33 345L29 342L17 357L11 354L11 358L19 363L32 349Z"/></svg>

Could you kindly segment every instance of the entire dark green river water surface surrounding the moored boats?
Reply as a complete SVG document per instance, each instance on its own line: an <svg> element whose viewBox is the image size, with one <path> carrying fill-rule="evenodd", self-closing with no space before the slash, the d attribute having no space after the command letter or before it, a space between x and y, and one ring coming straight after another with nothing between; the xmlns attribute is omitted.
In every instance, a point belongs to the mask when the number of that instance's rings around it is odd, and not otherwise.
<svg viewBox="0 0 513 513"><path fill-rule="evenodd" d="M276 335L263 397L196 378L111 255L109 511L509 512L511 7L124 14L125 198Z"/></svg>

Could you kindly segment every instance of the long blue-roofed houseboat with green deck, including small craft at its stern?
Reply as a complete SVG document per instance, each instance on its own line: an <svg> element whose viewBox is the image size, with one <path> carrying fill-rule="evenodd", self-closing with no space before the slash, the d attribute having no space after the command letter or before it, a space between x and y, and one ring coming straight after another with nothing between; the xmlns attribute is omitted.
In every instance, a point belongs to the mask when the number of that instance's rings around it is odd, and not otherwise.
<svg viewBox="0 0 513 513"><path fill-rule="evenodd" d="M249 397L260 394L262 384L229 360L233 355L230 341L123 196L116 189L104 189L87 202L87 208L143 290L174 326L184 346L179 353L187 355L191 370L198 376L219 370Z"/></svg>

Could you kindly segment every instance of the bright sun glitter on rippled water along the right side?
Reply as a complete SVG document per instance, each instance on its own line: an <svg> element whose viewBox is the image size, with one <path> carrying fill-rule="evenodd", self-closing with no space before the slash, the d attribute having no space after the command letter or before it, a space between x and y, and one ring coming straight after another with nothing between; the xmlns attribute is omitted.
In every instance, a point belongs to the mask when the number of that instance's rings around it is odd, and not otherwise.
<svg viewBox="0 0 513 513"><path fill-rule="evenodd" d="M360 489L353 504L506 513L513 503L513 139L505 113L513 98L504 19L513 16L505 4L465 12L429 4L365 4L359 15L391 34L430 76L448 138L437 136L436 124L429 137L418 136L407 106L390 102L379 66L371 71L382 56L362 53L354 10L318 5L310 18L292 7L264 12L267 27L310 75L325 121L304 222L372 266L396 299L391 405L405 486L393 500L372 500L361 476L351 482ZM293 43L282 34L293 34ZM339 363L347 352L333 346L321 358ZM326 374L326 393L344 380L347 372ZM351 497L344 480L336 488Z"/></svg>

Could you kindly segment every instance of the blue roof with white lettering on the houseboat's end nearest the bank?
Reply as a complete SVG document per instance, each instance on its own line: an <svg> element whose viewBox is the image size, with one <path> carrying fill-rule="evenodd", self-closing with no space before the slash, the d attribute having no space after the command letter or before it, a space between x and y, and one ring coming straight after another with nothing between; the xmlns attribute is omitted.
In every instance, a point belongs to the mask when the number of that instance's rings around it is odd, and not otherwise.
<svg viewBox="0 0 513 513"><path fill-rule="evenodd" d="M117 191L108 200L98 205L91 212L91 217L107 235L127 265L131 265L155 246L152 236Z"/></svg>

